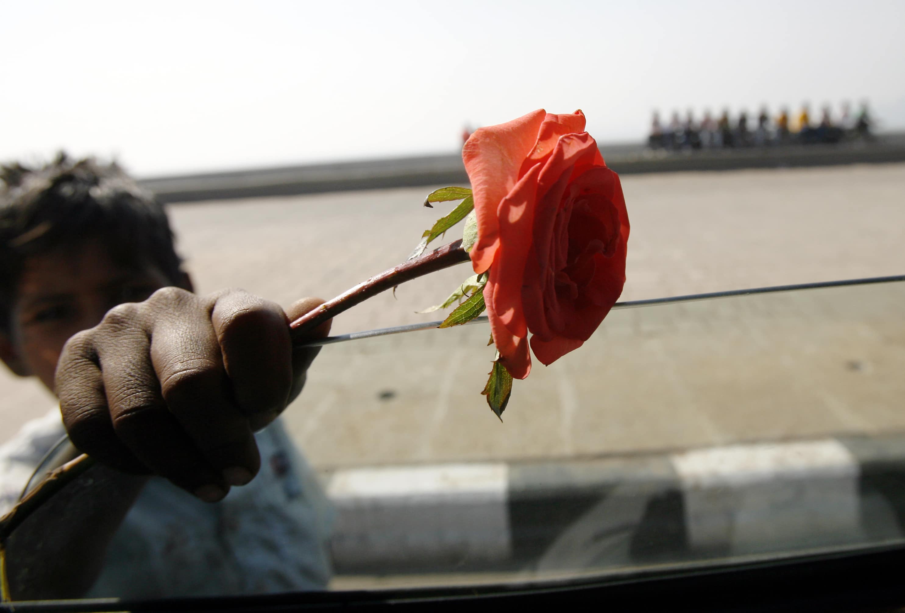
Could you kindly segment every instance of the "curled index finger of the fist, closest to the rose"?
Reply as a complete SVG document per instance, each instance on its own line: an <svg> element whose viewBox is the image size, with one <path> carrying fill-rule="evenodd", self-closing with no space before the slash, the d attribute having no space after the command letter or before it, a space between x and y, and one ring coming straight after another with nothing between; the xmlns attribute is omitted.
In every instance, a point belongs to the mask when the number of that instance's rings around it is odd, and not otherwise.
<svg viewBox="0 0 905 613"><path fill-rule="evenodd" d="M281 307L245 292L230 292L214 304L211 324L244 414L279 414L292 386L289 320Z"/></svg>

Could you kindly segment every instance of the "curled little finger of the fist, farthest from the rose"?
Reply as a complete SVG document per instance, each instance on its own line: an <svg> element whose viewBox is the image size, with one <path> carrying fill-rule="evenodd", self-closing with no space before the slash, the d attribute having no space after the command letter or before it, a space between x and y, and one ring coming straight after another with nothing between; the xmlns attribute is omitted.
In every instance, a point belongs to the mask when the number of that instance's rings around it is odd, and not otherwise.
<svg viewBox="0 0 905 613"><path fill-rule="evenodd" d="M90 332L73 336L63 347L54 391L60 399L63 426L79 451L125 472L150 472L113 429L100 360Z"/></svg>

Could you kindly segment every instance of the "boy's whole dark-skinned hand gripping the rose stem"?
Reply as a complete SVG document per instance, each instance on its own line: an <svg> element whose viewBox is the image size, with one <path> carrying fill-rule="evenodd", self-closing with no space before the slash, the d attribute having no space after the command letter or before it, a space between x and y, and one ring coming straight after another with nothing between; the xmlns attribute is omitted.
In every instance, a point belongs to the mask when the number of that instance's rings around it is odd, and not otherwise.
<svg viewBox="0 0 905 613"><path fill-rule="evenodd" d="M74 335L56 371L63 423L82 452L165 476L206 501L248 483L261 458L252 432L301 390L318 348L293 350L284 313L241 290L197 297L163 288ZM317 330L327 335L329 322Z"/></svg>

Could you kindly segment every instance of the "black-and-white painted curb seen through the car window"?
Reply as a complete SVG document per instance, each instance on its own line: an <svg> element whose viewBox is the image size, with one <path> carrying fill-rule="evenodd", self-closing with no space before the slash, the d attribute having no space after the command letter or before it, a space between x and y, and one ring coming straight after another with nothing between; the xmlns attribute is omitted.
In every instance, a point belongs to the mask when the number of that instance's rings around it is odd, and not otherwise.
<svg viewBox="0 0 905 613"><path fill-rule="evenodd" d="M325 476L338 573L568 570L905 534L905 436Z"/></svg>

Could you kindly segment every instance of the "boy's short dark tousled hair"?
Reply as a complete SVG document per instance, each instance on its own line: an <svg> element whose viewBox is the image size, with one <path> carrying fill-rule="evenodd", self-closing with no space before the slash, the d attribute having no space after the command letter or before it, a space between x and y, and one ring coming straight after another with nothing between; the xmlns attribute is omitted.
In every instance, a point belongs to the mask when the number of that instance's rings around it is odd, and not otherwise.
<svg viewBox="0 0 905 613"><path fill-rule="evenodd" d="M118 165L61 153L40 168L0 166L0 329L8 330L25 259L94 237L174 285L182 276L167 212Z"/></svg>

